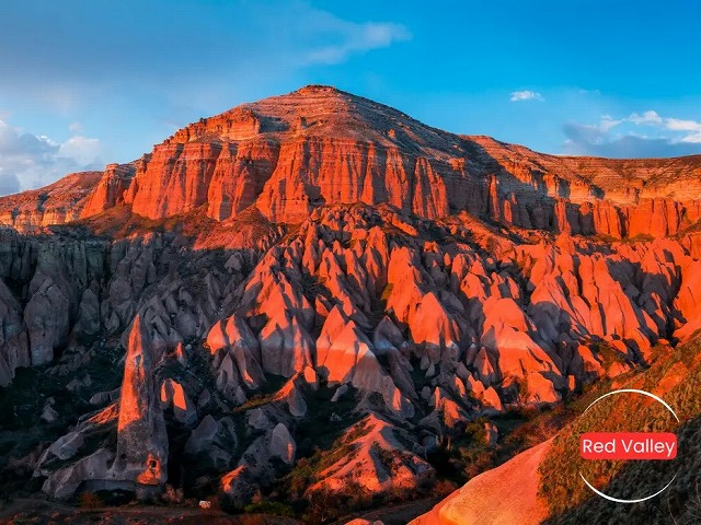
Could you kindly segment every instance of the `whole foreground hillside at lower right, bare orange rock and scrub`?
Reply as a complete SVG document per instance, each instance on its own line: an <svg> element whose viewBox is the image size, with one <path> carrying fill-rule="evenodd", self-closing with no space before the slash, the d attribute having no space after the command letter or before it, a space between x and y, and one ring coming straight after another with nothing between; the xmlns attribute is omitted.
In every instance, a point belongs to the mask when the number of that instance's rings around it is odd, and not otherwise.
<svg viewBox="0 0 701 525"><path fill-rule="evenodd" d="M597 402L552 439L497 468L474 477L411 525L631 523L641 525L699 522L701 465L701 338L679 345L642 372L604 382L573 405L579 415L611 389L643 389L660 396L679 417L637 394ZM648 402L650 401L650 402ZM678 455L669 462L588 462L577 454L579 435L601 432L675 432ZM593 497L579 474L610 497L627 500L659 495L635 504Z"/></svg>

